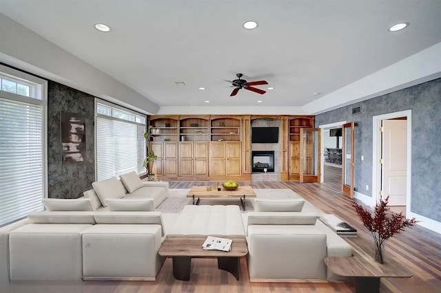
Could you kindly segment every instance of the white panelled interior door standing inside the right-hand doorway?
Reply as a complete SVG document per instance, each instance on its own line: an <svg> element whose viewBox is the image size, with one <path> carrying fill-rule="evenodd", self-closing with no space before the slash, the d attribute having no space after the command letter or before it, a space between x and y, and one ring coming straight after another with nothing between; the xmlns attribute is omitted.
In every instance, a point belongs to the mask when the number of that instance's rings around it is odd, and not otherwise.
<svg viewBox="0 0 441 293"><path fill-rule="evenodd" d="M407 197L407 120L383 120L383 198L405 206Z"/></svg>

